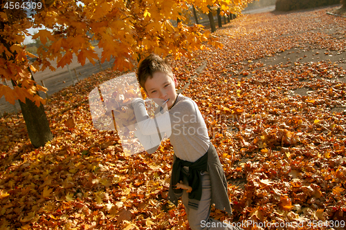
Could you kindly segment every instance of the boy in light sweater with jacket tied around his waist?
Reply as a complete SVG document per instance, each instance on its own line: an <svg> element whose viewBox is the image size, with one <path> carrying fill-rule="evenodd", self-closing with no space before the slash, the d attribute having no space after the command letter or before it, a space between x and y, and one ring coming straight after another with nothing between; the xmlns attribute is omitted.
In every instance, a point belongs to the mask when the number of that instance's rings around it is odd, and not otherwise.
<svg viewBox="0 0 346 230"><path fill-rule="evenodd" d="M140 63L137 78L147 96L154 99L161 111L150 119L143 99L133 99L131 104L138 122L136 135L141 135L141 143L146 142L142 144L148 146L145 147L148 153L156 151L164 133L169 135L174 148L169 200L177 204L182 196L192 230L238 229L210 218L211 204L228 213L232 209L224 169L209 140L208 129L197 104L188 97L176 94L178 81L172 68L157 55L149 55ZM157 134L159 142L154 140ZM143 136L147 136L145 141ZM182 189L181 184L192 191Z"/></svg>

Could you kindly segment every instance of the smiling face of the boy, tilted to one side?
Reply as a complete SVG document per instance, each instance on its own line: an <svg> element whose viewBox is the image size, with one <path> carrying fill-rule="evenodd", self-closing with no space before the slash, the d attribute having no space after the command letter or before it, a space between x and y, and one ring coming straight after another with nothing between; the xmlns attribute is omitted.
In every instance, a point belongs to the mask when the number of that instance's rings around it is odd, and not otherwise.
<svg viewBox="0 0 346 230"><path fill-rule="evenodd" d="M171 108L176 100L175 88L178 81L175 77L170 77L167 73L156 72L152 79L148 78L144 84L147 96L154 99L154 102L161 106L168 99L167 106Z"/></svg>

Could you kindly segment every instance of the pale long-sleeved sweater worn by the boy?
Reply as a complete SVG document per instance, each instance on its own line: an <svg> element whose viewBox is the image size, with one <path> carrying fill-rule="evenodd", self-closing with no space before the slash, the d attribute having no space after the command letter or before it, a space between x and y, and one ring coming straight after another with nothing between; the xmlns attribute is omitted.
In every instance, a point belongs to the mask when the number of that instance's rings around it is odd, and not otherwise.
<svg viewBox="0 0 346 230"><path fill-rule="evenodd" d="M181 160L195 162L208 151L206 123L197 104L189 97L179 94L172 108L157 111L154 119L147 115L143 99L134 99L132 106L138 122L135 133L148 153L156 151L164 134L170 138L174 153Z"/></svg>

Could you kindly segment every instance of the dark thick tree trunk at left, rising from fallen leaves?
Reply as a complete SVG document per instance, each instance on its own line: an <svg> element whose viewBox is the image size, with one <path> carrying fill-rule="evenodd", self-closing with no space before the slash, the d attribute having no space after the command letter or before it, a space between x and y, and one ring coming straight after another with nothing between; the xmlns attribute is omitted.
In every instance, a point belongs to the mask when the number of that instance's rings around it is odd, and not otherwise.
<svg viewBox="0 0 346 230"><path fill-rule="evenodd" d="M35 102L28 98L26 98L26 103L19 101L19 105L21 106L21 113L23 113L31 144L38 148L52 140L53 134L49 128L44 106L40 104L37 107Z"/></svg>

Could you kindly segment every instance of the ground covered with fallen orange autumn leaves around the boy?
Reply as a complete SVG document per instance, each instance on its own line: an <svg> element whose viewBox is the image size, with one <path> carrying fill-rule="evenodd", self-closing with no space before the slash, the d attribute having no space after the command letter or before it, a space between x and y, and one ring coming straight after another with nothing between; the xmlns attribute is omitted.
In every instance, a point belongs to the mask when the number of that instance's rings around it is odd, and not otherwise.
<svg viewBox="0 0 346 230"><path fill-rule="evenodd" d="M304 223L281 229L346 220L346 19L326 10L244 15L217 31L223 49L172 61L179 87L191 82L183 94L199 105L228 178L233 216L213 210L215 218ZM316 58L282 57L288 51ZM118 75L103 71L48 99L55 138L42 148L30 144L21 114L0 119L1 230L188 229L183 205L165 199L170 143L127 157L115 132L93 128L88 94Z"/></svg>

